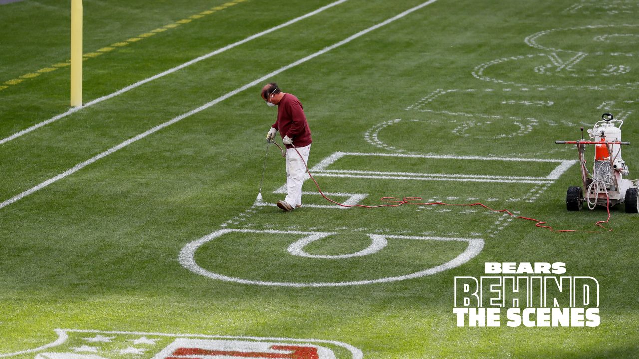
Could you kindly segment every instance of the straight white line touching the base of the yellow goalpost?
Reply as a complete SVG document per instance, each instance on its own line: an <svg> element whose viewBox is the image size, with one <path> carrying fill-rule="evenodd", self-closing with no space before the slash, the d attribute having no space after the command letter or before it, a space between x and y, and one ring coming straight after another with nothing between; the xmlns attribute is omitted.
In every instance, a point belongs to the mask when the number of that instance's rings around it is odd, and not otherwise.
<svg viewBox="0 0 639 359"><path fill-rule="evenodd" d="M135 84L129 85L129 86L123 88L123 89L119 89L118 91L116 91L114 93L111 93L110 95L105 95L105 96L96 98L93 101L85 103L81 107L72 107L71 109L69 109L68 111L66 111L63 114L59 114L58 116L54 116L54 117L52 117L50 119L47 119L46 121L42 121L42 122L40 122L40 123L38 123L36 125L33 125L33 126L29 127L29 128L26 128L25 130L22 130L22 131L17 132L17 133L15 133L13 135L10 135L9 137L1 139L0 140L0 144L3 144L4 142L9 142L9 141L11 141L13 139L16 139L17 137L20 137L20 136L24 135L24 134L28 134L29 132L31 132L33 130L36 130L36 129L42 127L42 126L49 125L49 123L58 121L58 119L61 119L61 118L65 118L66 116L69 116L70 114L73 114L74 112L80 111L81 109L84 109L84 108L89 107L91 105L95 105L96 103L100 103L100 102L103 102L105 100L109 100L110 98L114 98L115 96L121 95L121 94L123 94L123 93L125 93L125 92L127 92L127 91L129 91L131 89L134 89L134 88L137 88L139 86L142 86L143 84L146 84L147 82L151 82L153 80L160 79L160 77L164 77L166 75L169 75L170 73L174 73L174 72L176 72L178 70L181 70L181 69L183 69L183 68L185 68L187 66L193 65L194 63L199 63L200 61L208 59L209 57L221 54L222 52L224 52L226 50L233 49L234 47L238 47L238 46L240 46L240 45L242 45L244 43L247 43L247 42L249 42L251 40L255 40L256 38L259 38L259 37L264 36L266 34L270 34L273 31L277 31L279 29L282 29L283 27L289 26L291 24L295 24L295 22L298 22L300 20L304 20L304 19L306 19L308 17L311 17L313 15L317 15L318 13L321 13L322 11L328 10L329 8L332 8L332 7L337 6L339 4L346 3L346 1L348 1L348 0L335 1L335 3L328 4L327 6L324 6L323 8L319 8L318 10L311 11L310 13L307 13L306 15L302 15L302 16L296 17L295 19L290 20L288 22L284 22L284 24L281 24L281 25L278 25L278 26L275 26L275 27L271 27L270 29L262 31L261 33L254 34L254 35L251 35L251 36L245 38L244 40L240 40L238 42L231 43L231 45L227 45L225 47L222 47L221 49L217 49L217 50L215 50L213 52L209 52L206 55L197 57L196 59L192 59L191 61L183 63L182 65L175 66L174 68L166 70L165 72L158 73L157 75L148 77L147 79L135 82Z"/></svg>

